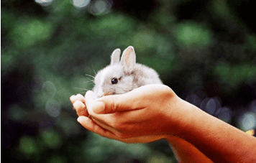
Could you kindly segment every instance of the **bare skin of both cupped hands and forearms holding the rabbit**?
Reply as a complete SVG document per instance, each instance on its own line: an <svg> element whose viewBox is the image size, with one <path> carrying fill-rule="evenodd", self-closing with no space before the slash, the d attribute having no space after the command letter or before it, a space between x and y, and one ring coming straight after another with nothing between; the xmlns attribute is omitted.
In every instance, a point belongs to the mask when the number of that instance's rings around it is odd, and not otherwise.
<svg viewBox="0 0 256 163"><path fill-rule="evenodd" d="M255 137L183 101L166 85L97 99L88 91L70 101L89 131L126 143L166 139L179 162L256 162Z"/></svg>

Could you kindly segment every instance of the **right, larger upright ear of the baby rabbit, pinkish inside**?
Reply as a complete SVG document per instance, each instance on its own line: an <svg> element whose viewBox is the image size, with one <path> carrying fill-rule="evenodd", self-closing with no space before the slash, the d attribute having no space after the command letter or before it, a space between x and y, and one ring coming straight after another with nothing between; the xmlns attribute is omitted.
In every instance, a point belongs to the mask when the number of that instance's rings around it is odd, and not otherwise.
<svg viewBox="0 0 256 163"><path fill-rule="evenodd" d="M121 57L121 64L124 66L124 71L131 72L134 69L136 63L135 51L132 46L127 47L124 50Z"/></svg>

